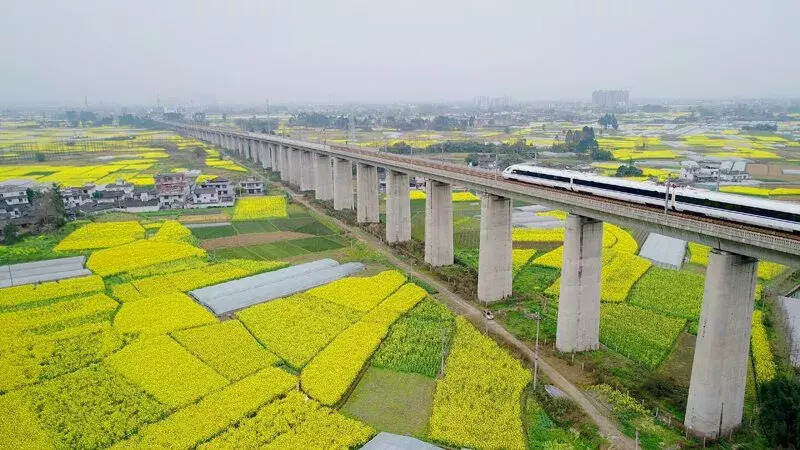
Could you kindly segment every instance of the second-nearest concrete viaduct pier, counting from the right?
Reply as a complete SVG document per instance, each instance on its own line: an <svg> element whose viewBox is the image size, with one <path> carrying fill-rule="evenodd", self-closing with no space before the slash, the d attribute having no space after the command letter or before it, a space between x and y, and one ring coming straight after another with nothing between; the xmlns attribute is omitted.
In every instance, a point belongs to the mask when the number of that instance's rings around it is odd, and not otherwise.
<svg viewBox="0 0 800 450"><path fill-rule="evenodd" d="M564 232L556 348L582 352L600 347L600 275L603 222L570 214Z"/></svg>

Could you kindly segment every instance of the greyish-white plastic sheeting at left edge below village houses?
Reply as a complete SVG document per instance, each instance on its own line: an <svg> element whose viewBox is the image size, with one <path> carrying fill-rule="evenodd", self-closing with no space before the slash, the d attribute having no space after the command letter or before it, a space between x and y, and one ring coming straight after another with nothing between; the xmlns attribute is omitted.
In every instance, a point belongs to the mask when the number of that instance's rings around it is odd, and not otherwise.
<svg viewBox="0 0 800 450"><path fill-rule="evenodd" d="M85 256L73 256L0 266L0 287L91 275L92 272L83 267L84 262Z"/></svg>

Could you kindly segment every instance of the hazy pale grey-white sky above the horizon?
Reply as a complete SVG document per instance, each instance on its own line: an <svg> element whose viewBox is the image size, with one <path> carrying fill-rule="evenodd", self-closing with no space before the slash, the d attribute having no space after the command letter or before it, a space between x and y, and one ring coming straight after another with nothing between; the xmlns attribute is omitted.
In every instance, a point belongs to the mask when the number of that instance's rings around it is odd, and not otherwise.
<svg viewBox="0 0 800 450"><path fill-rule="evenodd" d="M0 107L800 96L797 0L0 2Z"/></svg>

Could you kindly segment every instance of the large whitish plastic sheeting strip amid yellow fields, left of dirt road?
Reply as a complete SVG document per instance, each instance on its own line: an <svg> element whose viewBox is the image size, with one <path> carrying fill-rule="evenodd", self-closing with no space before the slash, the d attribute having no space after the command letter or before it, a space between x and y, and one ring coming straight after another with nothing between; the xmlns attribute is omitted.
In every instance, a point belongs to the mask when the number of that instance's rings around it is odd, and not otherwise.
<svg viewBox="0 0 800 450"><path fill-rule="evenodd" d="M195 289L189 293L215 314L225 314L256 303L306 291L361 270L364 270L364 265L361 263L339 264L332 259L321 259Z"/></svg>

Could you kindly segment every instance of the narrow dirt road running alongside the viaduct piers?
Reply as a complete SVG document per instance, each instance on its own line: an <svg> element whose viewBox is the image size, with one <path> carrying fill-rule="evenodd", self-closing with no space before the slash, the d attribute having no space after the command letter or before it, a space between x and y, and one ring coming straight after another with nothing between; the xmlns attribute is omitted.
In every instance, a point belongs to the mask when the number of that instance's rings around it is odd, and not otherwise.
<svg viewBox="0 0 800 450"><path fill-rule="evenodd" d="M280 184L278 184L280 186ZM283 186L281 186L283 187ZM286 189L286 188L284 188ZM446 302L446 304L450 307L450 309L454 310L456 313L461 314L469 318L469 320L479 329L483 329L487 327L487 322L483 320L483 314L481 310L475 307L472 303L464 300L456 293L452 292L446 284L442 283L441 281L422 273L416 270L413 266L406 263L402 259L398 258L393 252L391 247L383 243L381 240L376 238L375 236L367 233L366 231L350 226L341 220L331 217L325 213L325 211L320 210L317 206L311 204L307 201L302 195L295 194L291 192L289 189L286 189L287 192L290 193L292 198L305 205L310 210L316 212L319 215L325 216L325 218L334 221L338 226L342 229L348 230L352 235L357 237L359 240L363 241L364 243L368 244L372 248L375 248L381 254L383 254L392 264L397 267L400 267L407 273L413 274L415 277L418 277L424 280L426 283L434 286L439 291L439 298ZM498 324L494 321L488 322L488 329L492 332L495 336L500 337L503 341L505 341L508 345L514 347L520 354L525 356L525 359L528 362L530 367L533 367L535 354L533 350L530 349L524 342L517 339L514 335L508 332L502 325ZM569 397L577 403L581 409L591 418L591 420L597 424L600 428L600 433L608 439L611 443L612 448L619 448L619 449L635 449L636 444L633 439L625 436L622 432L617 428L616 424L613 420L611 420L606 414L604 414L594 402L589 399L586 394L583 393L577 386L572 384L569 380L567 380L564 376L562 376L556 369L553 368L550 364L548 364L543 358L539 358L539 370L550 380L553 385L564 391Z"/></svg>

